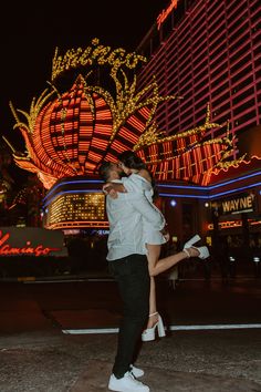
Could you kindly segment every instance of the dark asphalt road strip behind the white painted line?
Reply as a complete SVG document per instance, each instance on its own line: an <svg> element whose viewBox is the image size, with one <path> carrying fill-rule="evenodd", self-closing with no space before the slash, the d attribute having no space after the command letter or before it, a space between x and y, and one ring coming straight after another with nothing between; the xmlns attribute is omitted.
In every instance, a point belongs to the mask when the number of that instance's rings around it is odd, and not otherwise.
<svg viewBox="0 0 261 392"><path fill-rule="evenodd" d="M261 323L261 279L157 280L166 327ZM116 328L121 300L111 279L0 283L0 333L49 328Z"/></svg>

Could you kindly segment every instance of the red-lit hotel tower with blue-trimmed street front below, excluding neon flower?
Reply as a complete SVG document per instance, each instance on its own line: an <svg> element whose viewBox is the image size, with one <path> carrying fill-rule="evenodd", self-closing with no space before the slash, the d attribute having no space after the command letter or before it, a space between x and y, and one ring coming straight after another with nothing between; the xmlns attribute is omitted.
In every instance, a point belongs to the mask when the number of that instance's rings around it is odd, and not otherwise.
<svg viewBox="0 0 261 392"><path fill-rule="evenodd" d="M243 157L229 167L221 164L207 186L159 185L179 238L196 230L213 237L216 229L230 240L261 246L260 20L255 0L173 0L138 48L149 58L140 85L154 74L160 92L182 96L161 103L159 128L171 135L197 126L209 103L215 123L229 121L233 158ZM206 134L219 137L225 132Z"/></svg>

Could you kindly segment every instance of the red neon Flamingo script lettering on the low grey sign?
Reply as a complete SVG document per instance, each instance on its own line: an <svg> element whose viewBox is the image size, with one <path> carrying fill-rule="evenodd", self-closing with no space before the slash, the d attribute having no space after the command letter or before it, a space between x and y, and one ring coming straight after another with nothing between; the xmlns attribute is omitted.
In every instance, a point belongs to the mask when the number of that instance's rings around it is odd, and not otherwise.
<svg viewBox="0 0 261 392"><path fill-rule="evenodd" d="M10 233L3 234L0 230L0 256L48 256L52 251L61 251L61 248L44 247L42 244L32 246L30 240L25 241L22 247L13 247L8 244L10 238Z"/></svg>

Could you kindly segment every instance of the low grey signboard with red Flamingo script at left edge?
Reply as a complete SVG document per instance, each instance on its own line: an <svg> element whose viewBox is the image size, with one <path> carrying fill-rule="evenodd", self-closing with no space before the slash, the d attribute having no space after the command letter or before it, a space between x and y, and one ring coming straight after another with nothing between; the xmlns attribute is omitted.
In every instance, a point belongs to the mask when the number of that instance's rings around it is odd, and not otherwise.
<svg viewBox="0 0 261 392"><path fill-rule="evenodd" d="M0 257L2 256L67 256L61 230L39 227L0 227Z"/></svg>

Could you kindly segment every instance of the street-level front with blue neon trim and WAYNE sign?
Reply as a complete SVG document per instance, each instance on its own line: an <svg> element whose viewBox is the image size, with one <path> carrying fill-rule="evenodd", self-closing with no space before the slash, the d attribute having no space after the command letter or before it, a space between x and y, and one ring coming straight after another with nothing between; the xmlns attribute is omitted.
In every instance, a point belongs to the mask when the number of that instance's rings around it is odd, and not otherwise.
<svg viewBox="0 0 261 392"><path fill-rule="evenodd" d="M212 175L209 186L159 184L171 236L185 241L199 233L210 246L226 238L232 247L261 247L261 171L252 158Z"/></svg>

